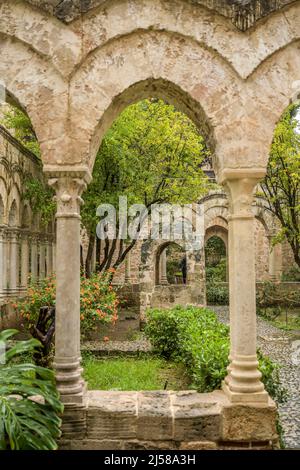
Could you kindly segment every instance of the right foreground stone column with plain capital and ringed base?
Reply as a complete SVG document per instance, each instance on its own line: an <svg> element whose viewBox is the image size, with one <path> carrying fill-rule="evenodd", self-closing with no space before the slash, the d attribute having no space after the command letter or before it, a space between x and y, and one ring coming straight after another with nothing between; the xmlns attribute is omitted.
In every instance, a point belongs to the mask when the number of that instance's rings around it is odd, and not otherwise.
<svg viewBox="0 0 300 470"><path fill-rule="evenodd" d="M267 403L256 355L253 191L265 172L224 170L229 195L230 366L223 389L233 403Z"/></svg>

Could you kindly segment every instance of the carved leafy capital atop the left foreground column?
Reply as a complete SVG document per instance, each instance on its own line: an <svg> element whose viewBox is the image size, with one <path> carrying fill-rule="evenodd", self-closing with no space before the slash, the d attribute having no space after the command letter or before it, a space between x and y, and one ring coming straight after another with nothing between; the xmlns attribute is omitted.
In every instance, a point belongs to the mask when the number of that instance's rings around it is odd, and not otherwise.
<svg viewBox="0 0 300 470"><path fill-rule="evenodd" d="M91 174L85 167L45 169L48 184L55 192L57 214L59 217L79 217L81 194L91 180Z"/></svg>

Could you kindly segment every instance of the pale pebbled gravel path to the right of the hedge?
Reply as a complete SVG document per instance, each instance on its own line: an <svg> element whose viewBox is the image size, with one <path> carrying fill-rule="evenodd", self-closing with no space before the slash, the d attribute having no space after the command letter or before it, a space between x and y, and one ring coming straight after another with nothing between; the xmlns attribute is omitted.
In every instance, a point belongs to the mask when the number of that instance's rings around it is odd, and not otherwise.
<svg viewBox="0 0 300 470"><path fill-rule="evenodd" d="M211 308L220 321L229 322L228 307ZM281 365L280 378L289 393L288 401L279 405L284 443L287 449L300 449L300 336L257 317L257 342L265 355Z"/></svg>

